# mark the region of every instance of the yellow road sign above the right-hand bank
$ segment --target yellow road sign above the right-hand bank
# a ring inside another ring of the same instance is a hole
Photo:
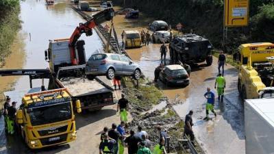
[[[249,0],[225,0],[225,27],[247,26],[249,21]]]

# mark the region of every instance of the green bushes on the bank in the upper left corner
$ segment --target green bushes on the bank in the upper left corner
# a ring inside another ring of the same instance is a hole
[[[18,0],[0,0],[0,62],[10,53],[10,45],[21,26],[19,12]]]

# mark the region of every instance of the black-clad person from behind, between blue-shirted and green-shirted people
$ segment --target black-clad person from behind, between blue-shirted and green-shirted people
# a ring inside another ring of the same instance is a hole
[[[135,136],[133,130],[130,130],[130,136],[125,138],[125,143],[127,143],[128,154],[136,154],[138,151],[138,142],[140,142],[140,138]]]

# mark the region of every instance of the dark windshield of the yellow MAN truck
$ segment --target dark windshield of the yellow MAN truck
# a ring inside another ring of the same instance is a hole
[[[29,118],[33,126],[55,123],[68,120],[72,117],[71,103],[68,101],[55,105],[29,107],[27,111],[29,112]]]

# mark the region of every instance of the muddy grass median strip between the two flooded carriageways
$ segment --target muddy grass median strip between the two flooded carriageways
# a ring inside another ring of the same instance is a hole
[[[139,86],[132,79],[123,79],[122,84],[125,87],[123,92],[129,100],[129,109],[134,118],[130,124],[132,127],[142,125],[143,129],[149,133],[150,140],[153,145],[158,142],[158,133],[155,131],[156,125],[162,125],[171,137],[171,150],[175,152],[177,149],[177,140],[182,139],[184,132],[184,122],[173,110],[171,105],[166,105],[162,110],[146,113],[151,110],[153,105],[157,105],[163,99],[163,94],[148,79],[140,79]],[[202,152],[201,148],[197,147]]]

